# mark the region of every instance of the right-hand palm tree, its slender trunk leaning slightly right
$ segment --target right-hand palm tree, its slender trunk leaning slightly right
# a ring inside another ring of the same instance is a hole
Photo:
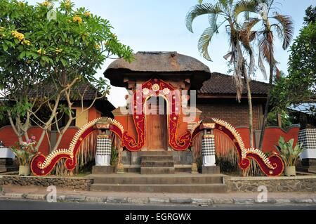
[[[258,37],[258,67],[260,67],[263,76],[266,78],[267,74],[263,60],[268,62],[270,68],[269,75],[269,88],[268,97],[265,103],[265,114],[263,117],[263,124],[261,127],[261,136],[259,142],[259,148],[262,149],[263,136],[265,133],[265,126],[267,123],[268,110],[271,99],[271,89],[273,84],[273,74],[276,73],[277,79],[280,76],[280,72],[277,69],[277,60],[275,60],[274,54],[274,37],[275,33],[277,37],[283,42],[282,48],[286,50],[291,43],[294,34],[294,26],[289,15],[281,15],[275,11],[275,0],[248,0],[239,1],[237,5],[244,5],[244,10],[247,15],[250,13],[256,13],[259,15],[257,18],[249,18],[252,24],[249,26],[251,30],[258,22],[262,21],[262,29],[256,32]],[[240,11],[239,13],[241,13]]]

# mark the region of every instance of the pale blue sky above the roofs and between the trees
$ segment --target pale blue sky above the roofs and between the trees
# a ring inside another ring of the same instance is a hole
[[[205,2],[214,3],[213,0]],[[34,1],[29,0],[30,4]],[[305,9],[314,4],[315,0],[278,0],[277,8],[282,14],[291,15],[294,20],[295,33],[303,25]],[[224,32],[213,38],[209,52],[213,62],[204,60],[197,51],[197,40],[206,28],[208,18],[201,16],[193,24],[194,34],[185,27],[185,15],[197,0],[75,0],[77,7],[84,6],[91,13],[100,15],[114,27],[113,32],[122,43],[131,46],[133,51],[178,51],[201,60],[209,66],[211,72],[228,72],[228,66],[223,55],[228,52],[228,37]],[[315,6],[315,4],[314,4]],[[283,51],[282,44],[275,44],[276,59],[279,69],[287,74],[289,53]],[[104,70],[112,62],[107,60],[103,69],[98,72],[102,76]],[[260,72],[254,79],[264,81]],[[112,87],[109,100],[117,107],[125,105],[124,88]]]

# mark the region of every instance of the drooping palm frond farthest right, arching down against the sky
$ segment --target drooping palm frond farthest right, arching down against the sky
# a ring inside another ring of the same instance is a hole
[[[291,19],[291,16],[289,15],[275,15],[273,16],[277,21],[279,21],[279,24],[282,25],[282,34],[283,34],[283,49],[287,49],[289,47],[289,44],[291,43],[293,39],[294,34],[294,25],[293,20]],[[279,25],[277,25],[279,26]],[[280,27],[281,29],[281,27]]]

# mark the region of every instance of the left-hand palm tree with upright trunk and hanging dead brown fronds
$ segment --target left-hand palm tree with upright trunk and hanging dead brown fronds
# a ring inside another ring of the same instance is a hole
[[[190,32],[192,30],[192,22],[199,15],[209,15],[209,27],[207,27],[202,33],[198,41],[199,53],[203,55],[206,60],[210,60],[209,56],[209,44],[213,34],[218,34],[218,30],[221,26],[226,27],[226,32],[228,33],[230,39],[230,52],[224,56],[225,59],[230,58],[230,64],[234,67],[234,78],[237,88],[237,100],[240,102],[243,92],[243,80],[246,83],[248,104],[249,104],[249,137],[250,137],[250,147],[254,147],[253,138],[253,119],[252,119],[252,103],[251,103],[251,90],[250,90],[250,76],[254,72],[254,55],[250,42],[254,39],[254,32],[251,32],[247,27],[246,23],[244,25],[239,25],[237,22],[237,17],[239,13],[245,12],[247,8],[246,4],[234,5],[233,0],[218,0],[216,4],[202,4],[202,0],[199,0],[199,4],[193,6],[187,13],[185,18],[185,24]],[[219,19],[221,22],[218,22]],[[242,44],[242,45],[241,45]],[[242,51],[242,46],[249,53],[249,70],[246,70],[246,60]]]

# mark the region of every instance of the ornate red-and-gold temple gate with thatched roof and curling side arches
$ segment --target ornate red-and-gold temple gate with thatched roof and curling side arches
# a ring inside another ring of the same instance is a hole
[[[177,169],[196,173],[193,143],[201,135],[202,143],[199,145],[203,164],[200,171],[219,173],[215,161],[214,130],[232,140],[239,155],[240,168],[249,167],[252,158],[267,176],[282,173],[284,165],[277,154],[267,157],[260,150],[246,149],[239,133],[225,121],[216,118],[210,118],[208,122],[199,120],[200,112],[194,105],[195,90],[211,76],[206,65],[176,52],[138,52],[135,58],[131,63],[115,60],[105,71],[105,77],[113,86],[130,91],[128,105],[114,112],[115,119],[99,118],[86,124],[76,134],[69,149],[52,152],[47,158],[41,154],[34,157],[32,171],[35,175],[47,175],[61,158],[67,159],[67,169],[73,169],[81,141],[95,129],[103,130],[104,139],[100,140],[106,141],[110,132],[121,139],[119,173],[175,173]],[[108,156],[111,146],[103,147]],[[108,166],[93,170],[100,173],[113,171]]]

